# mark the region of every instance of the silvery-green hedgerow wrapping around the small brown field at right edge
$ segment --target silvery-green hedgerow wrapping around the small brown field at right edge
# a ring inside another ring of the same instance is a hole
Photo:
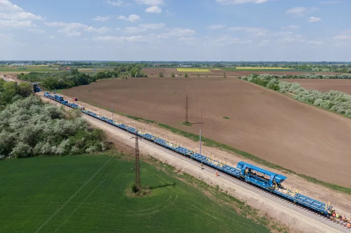
[[[251,74],[248,77],[239,77],[269,89],[277,90],[281,93],[289,92],[295,94],[294,98],[297,101],[314,105],[325,110],[342,114],[351,118],[351,95],[331,90],[329,92],[322,92],[313,89],[305,89],[299,83],[288,83],[280,81],[279,79],[287,78],[287,75],[270,75],[270,74]],[[290,76],[291,77],[291,76]],[[294,76],[295,77],[295,76]],[[318,74],[303,74],[298,75],[299,78],[321,78],[321,79],[351,79],[348,74],[335,74],[335,75],[318,75]]]

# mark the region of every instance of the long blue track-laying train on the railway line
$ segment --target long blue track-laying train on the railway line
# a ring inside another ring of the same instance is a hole
[[[53,99],[54,101],[59,102],[67,107],[79,109],[80,111],[82,111],[82,113],[86,115],[102,120],[108,124],[116,126],[132,134],[136,134],[140,138],[146,139],[176,153],[192,158],[224,174],[244,180],[248,183],[260,187],[261,189],[272,192],[275,195],[280,196],[290,202],[293,202],[316,213],[319,213],[320,215],[330,217],[335,212],[330,204],[325,204],[316,201],[315,199],[310,198],[308,196],[302,195],[299,193],[299,190],[293,191],[291,190],[291,188],[284,188],[282,186],[282,182],[286,179],[285,176],[278,175],[265,169],[258,168],[246,162],[239,162],[237,167],[231,167],[227,164],[224,164],[222,161],[212,159],[212,157],[208,157],[196,153],[196,151],[190,150],[188,148],[181,147],[180,145],[177,145],[177,143],[173,144],[168,140],[160,139],[159,137],[151,135],[148,132],[140,131],[134,127],[120,123],[105,116],[101,116],[95,112],[85,110],[84,107],[81,107],[74,103],[69,103],[60,95],[52,95],[49,92],[45,92],[44,97]]]

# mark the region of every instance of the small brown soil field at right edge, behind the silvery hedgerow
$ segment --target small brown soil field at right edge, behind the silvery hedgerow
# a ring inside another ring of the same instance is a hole
[[[298,82],[306,89],[328,92],[330,90],[343,91],[351,94],[350,79],[281,79],[289,83]]]

